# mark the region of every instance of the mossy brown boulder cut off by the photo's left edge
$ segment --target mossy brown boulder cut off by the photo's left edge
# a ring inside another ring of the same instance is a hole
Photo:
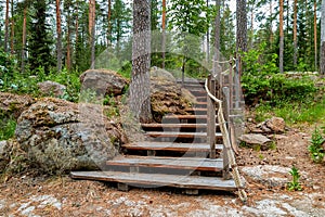
[[[0,92],[0,117],[18,118],[34,102],[35,100],[29,95]]]

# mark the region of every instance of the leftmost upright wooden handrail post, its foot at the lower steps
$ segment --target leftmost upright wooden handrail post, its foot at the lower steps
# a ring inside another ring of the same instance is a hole
[[[216,79],[209,75],[208,88],[216,95]],[[210,158],[216,158],[216,102],[208,95],[207,140],[210,145]]]

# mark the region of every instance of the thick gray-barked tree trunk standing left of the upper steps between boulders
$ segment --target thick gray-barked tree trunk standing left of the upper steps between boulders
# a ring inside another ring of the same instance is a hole
[[[132,78],[130,108],[135,118],[146,123],[151,113],[151,1],[133,1]]]

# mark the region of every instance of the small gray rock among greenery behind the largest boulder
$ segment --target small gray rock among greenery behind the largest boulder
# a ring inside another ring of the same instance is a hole
[[[66,91],[66,87],[64,85],[51,80],[38,82],[37,86],[43,97],[60,98],[63,97]]]

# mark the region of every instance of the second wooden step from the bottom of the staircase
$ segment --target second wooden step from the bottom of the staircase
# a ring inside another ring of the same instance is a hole
[[[106,165],[196,171],[221,171],[223,169],[223,159],[198,157],[119,156],[112,161],[107,161]]]

